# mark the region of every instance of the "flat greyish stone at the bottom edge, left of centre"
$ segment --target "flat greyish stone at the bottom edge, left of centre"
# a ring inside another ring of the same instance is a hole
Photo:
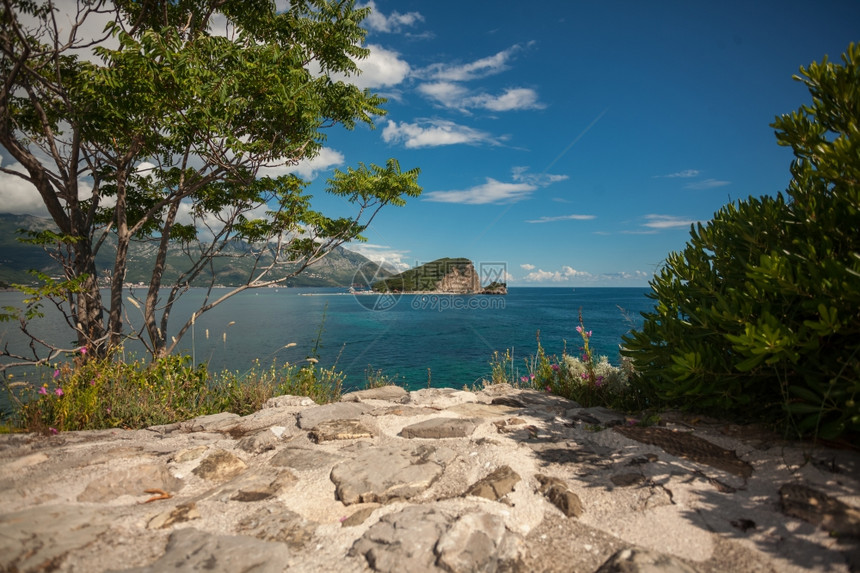
[[[281,543],[245,535],[214,535],[189,527],[170,534],[164,555],[155,563],[124,573],[281,573],[289,558],[289,548]]]

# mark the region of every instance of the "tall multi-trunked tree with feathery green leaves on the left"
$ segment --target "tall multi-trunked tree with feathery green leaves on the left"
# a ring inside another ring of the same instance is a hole
[[[352,0],[295,0],[283,12],[269,0],[75,5],[62,14],[51,0],[2,0],[0,144],[24,173],[0,169],[33,184],[59,229],[33,240],[62,262],[64,280],[33,295],[67,302],[79,346],[108,354],[143,335],[153,356],[169,353],[201,313],[295,276],[361,239],[385,205],[420,194],[417,169],[362,164],[329,180],[327,191],[356,210],[330,218],[311,208],[305,181],[266,169],[313,158],[327,128],[372,126],[384,114],[382,98],[332,79],[359,73],[369,9]],[[103,34],[82,32],[106,19]],[[150,243],[154,257],[146,296],[135,301],[143,327],[126,333],[123,279],[135,241]],[[253,273],[218,299],[207,295],[169,342],[173,304],[203,276],[211,293],[213,261],[236,241],[251,246]],[[109,243],[103,300],[95,257]],[[167,285],[171,245],[188,264]],[[286,263],[290,275],[269,278]]]

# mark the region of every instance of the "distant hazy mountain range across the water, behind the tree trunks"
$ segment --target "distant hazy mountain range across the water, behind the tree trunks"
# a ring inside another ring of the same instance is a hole
[[[0,287],[10,284],[32,284],[30,269],[41,271],[49,276],[61,276],[60,265],[37,245],[22,243],[25,237],[19,229],[28,231],[55,230],[53,221],[31,215],[12,215],[0,213]],[[100,276],[109,276],[113,268],[115,250],[107,242],[96,257]],[[152,261],[155,258],[154,243],[135,242],[129,248],[126,282],[149,282]],[[249,245],[234,241],[227,245],[223,255],[213,261],[216,284],[237,286],[243,284],[252,271],[252,259],[243,256],[250,252]],[[170,247],[165,263],[164,277],[167,284],[175,279],[189,262],[187,255],[178,247]],[[270,274],[270,278],[280,278],[289,274],[294,265],[280,265]],[[354,251],[337,247],[322,260],[305,269],[297,277],[289,279],[287,286],[362,286],[367,287],[372,280],[388,277],[396,271],[374,263]],[[202,277],[197,284],[208,284]]]

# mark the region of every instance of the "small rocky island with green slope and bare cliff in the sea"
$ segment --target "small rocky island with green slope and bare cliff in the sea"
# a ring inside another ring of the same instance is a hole
[[[505,283],[481,286],[475,265],[465,258],[442,258],[373,283],[375,292],[421,294],[508,294]]]

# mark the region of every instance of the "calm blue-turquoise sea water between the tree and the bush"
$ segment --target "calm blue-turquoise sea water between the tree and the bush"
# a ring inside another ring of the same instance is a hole
[[[537,333],[548,354],[576,352],[581,340],[578,314],[593,331],[592,345],[618,363],[621,336],[641,325],[650,309],[645,288],[511,288],[507,296],[421,296],[386,298],[351,295],[343,289],[259,289],[237,295],[201,316],[183,338],[183,351],[210,369],[248,370],[255,359],[302,362],[319,338],[322,366],[337,365],[346,387],[365,383],[368,368],[381,370],[411,388],[429,375],[437,387],[462,387],[490,376],[494,351],[511,350],[515,365],[534,355]],[[197,308],[203,291],[191,290],[173,311],[184,318]],[[0,306],[18,304],[21,295],[0,293]],[[46,309],[47,310],[47,309]],[[137,312],[133,307],[129,313]],[[132,320],[134,316],[131,317]],[[176,321],[178,325],[178,320]],[[0,323],[0,344],[25,349],[14,323]],[[56,313],[34,331],[70,344]],[[295,343],[295,346],[285,348]],[[138,354],[141,353],[138,347]],[[135,352],[135,343],[127,346]]]

